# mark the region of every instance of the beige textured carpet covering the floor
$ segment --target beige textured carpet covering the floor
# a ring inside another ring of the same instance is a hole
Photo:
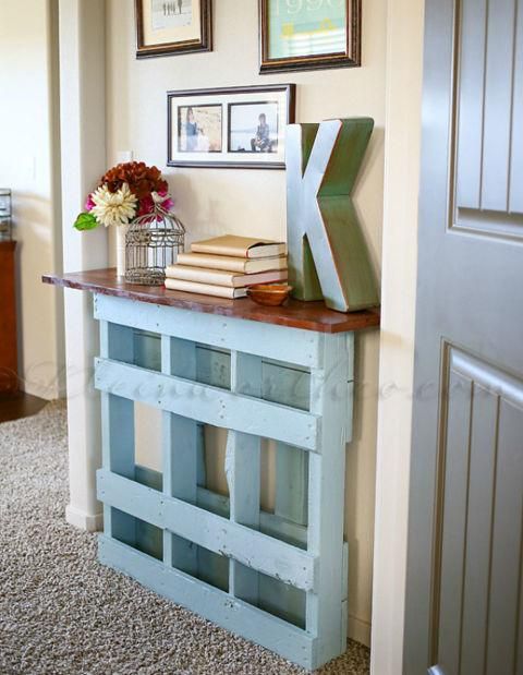
[[[1,675],[304,673],[96,562],[64,522],[65,409],[0,424]],[[318,673],[368,673],[355,642]]]

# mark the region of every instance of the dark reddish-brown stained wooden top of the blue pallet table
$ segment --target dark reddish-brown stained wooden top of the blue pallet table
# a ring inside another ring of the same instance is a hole
[[[139,302],[163,304],[193,312],[220,314],[234,318],[259,321],[291,328],[304,328],[318,333],[352,333],[364,328],[379,326],[379,309],[364,310],[344,314],[327,309],[324,302],[302,302],[288,300],[282,306],[268,308],[256,304],[250,298],[226,300],[198,293],[172,291],[163,286],[137,286],[126,284],[117,276],[117,270],[93,269],[71,274],[45,275],[45,284],[75,288],[93,293],[117,296]]]

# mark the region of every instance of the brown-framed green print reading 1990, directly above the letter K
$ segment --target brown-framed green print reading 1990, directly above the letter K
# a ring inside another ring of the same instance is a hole
[[[361,65],[361,0],[258,0],[260,73]]]

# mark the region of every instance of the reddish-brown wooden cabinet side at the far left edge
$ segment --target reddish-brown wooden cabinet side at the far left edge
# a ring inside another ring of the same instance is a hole
[[[14,241],[0,241],[0,393],[19,388]]]

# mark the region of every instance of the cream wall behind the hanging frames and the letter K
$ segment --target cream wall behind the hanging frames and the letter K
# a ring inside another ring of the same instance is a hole
[[[296,121],[372,116],[376,131],[355,200],[372,257],[380,268],[386,3],[365,0],[363,68],[260,76],[256,0],[215,3],[215,48],[210,53],[137,61],[134,11],[129,0],[107,1],[107,164],[119,152],[156,164],[169,176],[188,239],[231,231],[285,237],[283,171],[167,169],[168,89],[295,82]],[[259,194],[269,195],[260,202]],[[369,641],[375,495],[378,333],[357,340],[354,441],[348,449],[346,537],[351,545],[350,635]]]

